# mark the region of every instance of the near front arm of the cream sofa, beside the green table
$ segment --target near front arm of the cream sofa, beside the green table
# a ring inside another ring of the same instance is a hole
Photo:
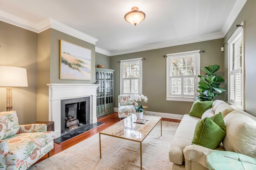
[[[186,160],[198,162],[206,168],[208,168],[206,165],[206,156],[212,151],[215,150],[199,145],[189,145],[183,149],[184,157]]]

